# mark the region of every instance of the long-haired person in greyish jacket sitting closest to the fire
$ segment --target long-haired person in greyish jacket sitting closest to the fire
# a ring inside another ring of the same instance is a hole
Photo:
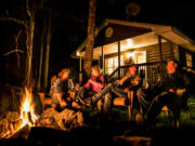
[[[68,92],[75,90],[74,82],[68,77],[69,69],[62,69],[51,85],[50,95],[52,97],[51,105],[53,108],[65,107],[67,105],[66,97],[69,96]]]

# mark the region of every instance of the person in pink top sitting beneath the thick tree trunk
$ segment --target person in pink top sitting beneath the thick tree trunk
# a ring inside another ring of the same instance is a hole
[[[76,101],[73,103],[73,107],[80,108],[81,105],[86,105],[83,102],[86,97],[90,97],[96,94],[104,88],[104,76],[100,74],[100,70],[96,66],[91,68],[91,78],[78,92]]]

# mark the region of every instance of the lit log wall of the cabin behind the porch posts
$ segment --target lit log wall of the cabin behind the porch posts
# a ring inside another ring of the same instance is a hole
[[[161,43],[161,51],[162,51],[161,52],[162,53],[162,61],[169,61],[169,59],[172,59],[172,58],[178,59],[179,58],[178,45],[174,44],[174,43],[171,43],[169,41],[162,42]],[[139,49],[131,49],[129,51],[121,52],[120,53],[120,55],[121,55],[120,65],[121,66],[127,65],[127,59],[128,59],[127,54],[128,53],[134,53],[136,56],[140,53],[142,55],[144,53],[145,54],[145,59],[144,59],[144,62],[141,62],[141,63],[154,63],[154,62],[159,62],[160,61],[159,44],[154,44],[154,45],[150,45],[150,47],[145,47],[145,48],[139,48]],[[113,58],[113,61],[108,62],[108,59],[110,59],[110,58]],[[117,59],[118,59],[118,53],[113,53],[113,54],[105,55],[105,74],[109,75],[118,67]],[[134,61],[133,63],[138,64],[138,61],[136,62]],[[115,64],[115,65],[113,67],[109,67],[110,64]],[[151,75],[156,76],[156,74],[153,72],[154,71],[153,67],[147,67],[147,69],[146,68],[144,69],[148,76],[151,76]]]

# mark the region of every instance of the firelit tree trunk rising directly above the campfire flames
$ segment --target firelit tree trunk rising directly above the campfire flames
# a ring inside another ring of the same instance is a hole
[[[31,85],[31,61],[32,61],[32,45],[34,45],[34,34],[35,34],[35,13],[30,15],[29,25],[27,26],[27,59],[26,59],[26,79],[25,85],[29,88]]]

